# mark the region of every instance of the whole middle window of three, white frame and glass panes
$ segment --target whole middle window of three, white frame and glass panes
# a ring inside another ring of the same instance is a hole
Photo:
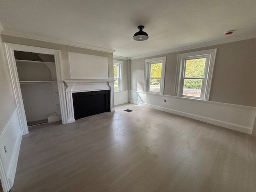
[[[144,60],[144,92],[164,94],[166,57]]]

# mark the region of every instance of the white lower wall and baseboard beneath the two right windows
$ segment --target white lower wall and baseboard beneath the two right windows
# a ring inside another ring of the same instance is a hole
[[[164,97],[164,98],[163,98]],[[164,102],[164,99],[166,102]],[[256,108],[131,91],[131,103],[252,134]]]

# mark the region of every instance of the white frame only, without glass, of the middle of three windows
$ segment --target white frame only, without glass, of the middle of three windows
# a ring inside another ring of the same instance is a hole
[[[162,74],[160,80],[160,92],[151,92],[150,91],[150,65],[155,63],[162,63]],[[154,93],[154,94],[164,94],[164,74],[165,74],[165,63],[166,63],[166,56],[165,57],[158,57],[152,59],[145,59],[144,60],[144,92]]]

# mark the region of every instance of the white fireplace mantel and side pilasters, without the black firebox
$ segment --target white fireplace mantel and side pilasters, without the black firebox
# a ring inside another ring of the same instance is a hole
[[[64,80],[64,82],[67,85],[65,92],[68,110],[68,123],[75,121],[72,93],[110,90],[110,111],[115,111],[113,79],[72,79]]]

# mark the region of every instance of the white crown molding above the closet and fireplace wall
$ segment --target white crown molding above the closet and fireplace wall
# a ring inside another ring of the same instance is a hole
[[[1,26],[0,26],[0,28],[1,28]],[[68,46],[75,46],[75,47],[96,50],[96,51],[102,51],[102,52],[108,52],[108,53],[115,52],[115,50],[106,49],[106,48],[102,48],[102,47],[96,47],[96,46],[91,46],[91,45],[86,45],[86,44],[81,44],[81,43],[69,42],[69,41],[50,38],[50,37],[37,35],[37,34],[25,34],[25,33],[20,33],[20,32],[16,32],[16,31],[5,30],[4,28],[1,32],[1,34],[20,37],[20,38],[39,40],[39,41],[44,41],[44,42],[50,42],[50,43],[56,43],[56,44],[62,44],[62,45],[68,45]]]

